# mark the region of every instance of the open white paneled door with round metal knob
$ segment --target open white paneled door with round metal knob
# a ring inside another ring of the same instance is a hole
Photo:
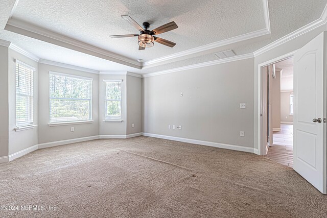
[[[324,46],[321,33],[294,54],[294,170],[322,193],[327,154]]]

